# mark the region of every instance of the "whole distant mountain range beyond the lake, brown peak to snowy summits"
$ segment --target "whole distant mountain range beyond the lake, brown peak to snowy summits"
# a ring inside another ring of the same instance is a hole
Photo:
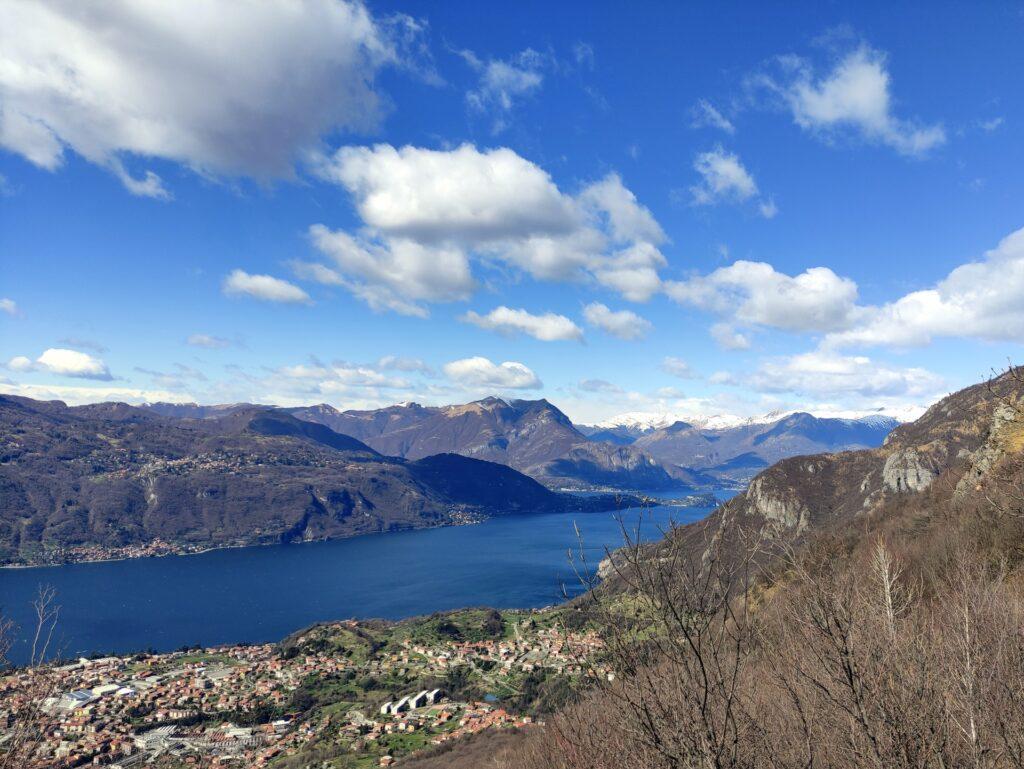
[[[197,419],[243,408],[148,407]],[[877,410],[829,417],[772,412],[751,418],[719,415],[685,420],[633,412],[597,425],[575,425],[547,400],[499,397],[442,407],[409,402],[339,411],[319,403],[285,411],[351,435],[384,455],[415,460],[460,454],[508,465],[554,488],[734,485],[786,457],[881,445],[900,423],[896,416]]]

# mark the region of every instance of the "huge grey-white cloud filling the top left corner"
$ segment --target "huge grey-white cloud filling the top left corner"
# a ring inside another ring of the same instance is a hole
[[[129,165],[288,177],[325,134],[376,126],[375,75],[421,29],[390,22],[348,0],[7,0],[0,145],[48,170],[72,149],[157,198],[161,178]]]

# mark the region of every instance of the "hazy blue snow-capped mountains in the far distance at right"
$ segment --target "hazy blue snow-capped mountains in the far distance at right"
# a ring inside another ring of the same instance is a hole
[[[632,445],[665,465],[745,481],[786,457],[881,445],[897,424],[885,417],[823,419],[810,414],[714,430],[676,422],[639,436]]]

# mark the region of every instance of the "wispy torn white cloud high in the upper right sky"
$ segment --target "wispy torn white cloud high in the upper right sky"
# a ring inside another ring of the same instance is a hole
[[[826,136],[852,129],[868,141],[907,156],[921,156],[946,140],[941,125],[921,125],[893,114],[891,77],[886,56],[861,45],[824,77],[803,59],[784,59],[788,72],[762,82],[781,94],[793,119],[804,129]]]

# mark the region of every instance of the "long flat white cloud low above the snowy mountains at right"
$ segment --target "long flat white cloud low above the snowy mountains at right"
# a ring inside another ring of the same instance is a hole
[[[763,392],[866,398],[934,398],[944,386],[941,377],[926,369],[895,368],[823,350],[766,361],[749,384]]]

